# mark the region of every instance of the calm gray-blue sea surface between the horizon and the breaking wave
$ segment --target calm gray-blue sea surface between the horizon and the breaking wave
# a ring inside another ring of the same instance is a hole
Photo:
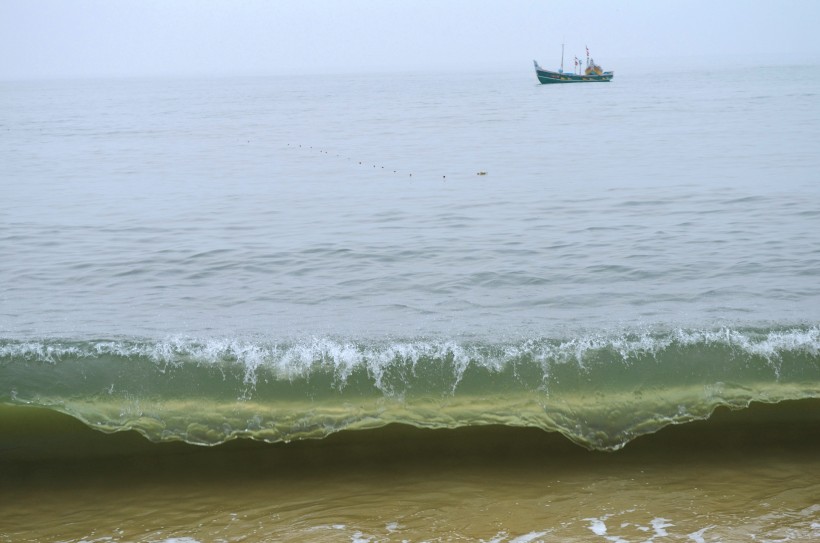
[[[817,72],[4,82],[0,100],[10,338],[820,320]]]

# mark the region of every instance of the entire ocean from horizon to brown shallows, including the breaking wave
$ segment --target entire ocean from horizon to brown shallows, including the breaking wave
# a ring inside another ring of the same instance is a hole
[[[0,542],[820,538],[820,76],[0,82]]]

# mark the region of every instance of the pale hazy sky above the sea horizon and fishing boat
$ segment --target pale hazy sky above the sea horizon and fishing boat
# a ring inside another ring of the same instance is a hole
[[[820,61],[818,0],[0,0],[0,78]],[[695,60],[697,59],[697,60]]]

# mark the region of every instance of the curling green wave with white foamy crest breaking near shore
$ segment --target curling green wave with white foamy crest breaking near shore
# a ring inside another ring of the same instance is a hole
[[[201,445],[397,422],[537,427],[615,450],[721,405],[817,397],[820,329],[807,326],[496,343],[0,340],[0,402]]]

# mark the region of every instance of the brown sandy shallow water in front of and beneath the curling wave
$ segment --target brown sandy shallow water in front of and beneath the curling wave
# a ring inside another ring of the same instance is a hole
[[[203,448],[39,409],[0,421],[4,543],[820,536],[816,401],[719,411],[617,453],[505,427]]]

